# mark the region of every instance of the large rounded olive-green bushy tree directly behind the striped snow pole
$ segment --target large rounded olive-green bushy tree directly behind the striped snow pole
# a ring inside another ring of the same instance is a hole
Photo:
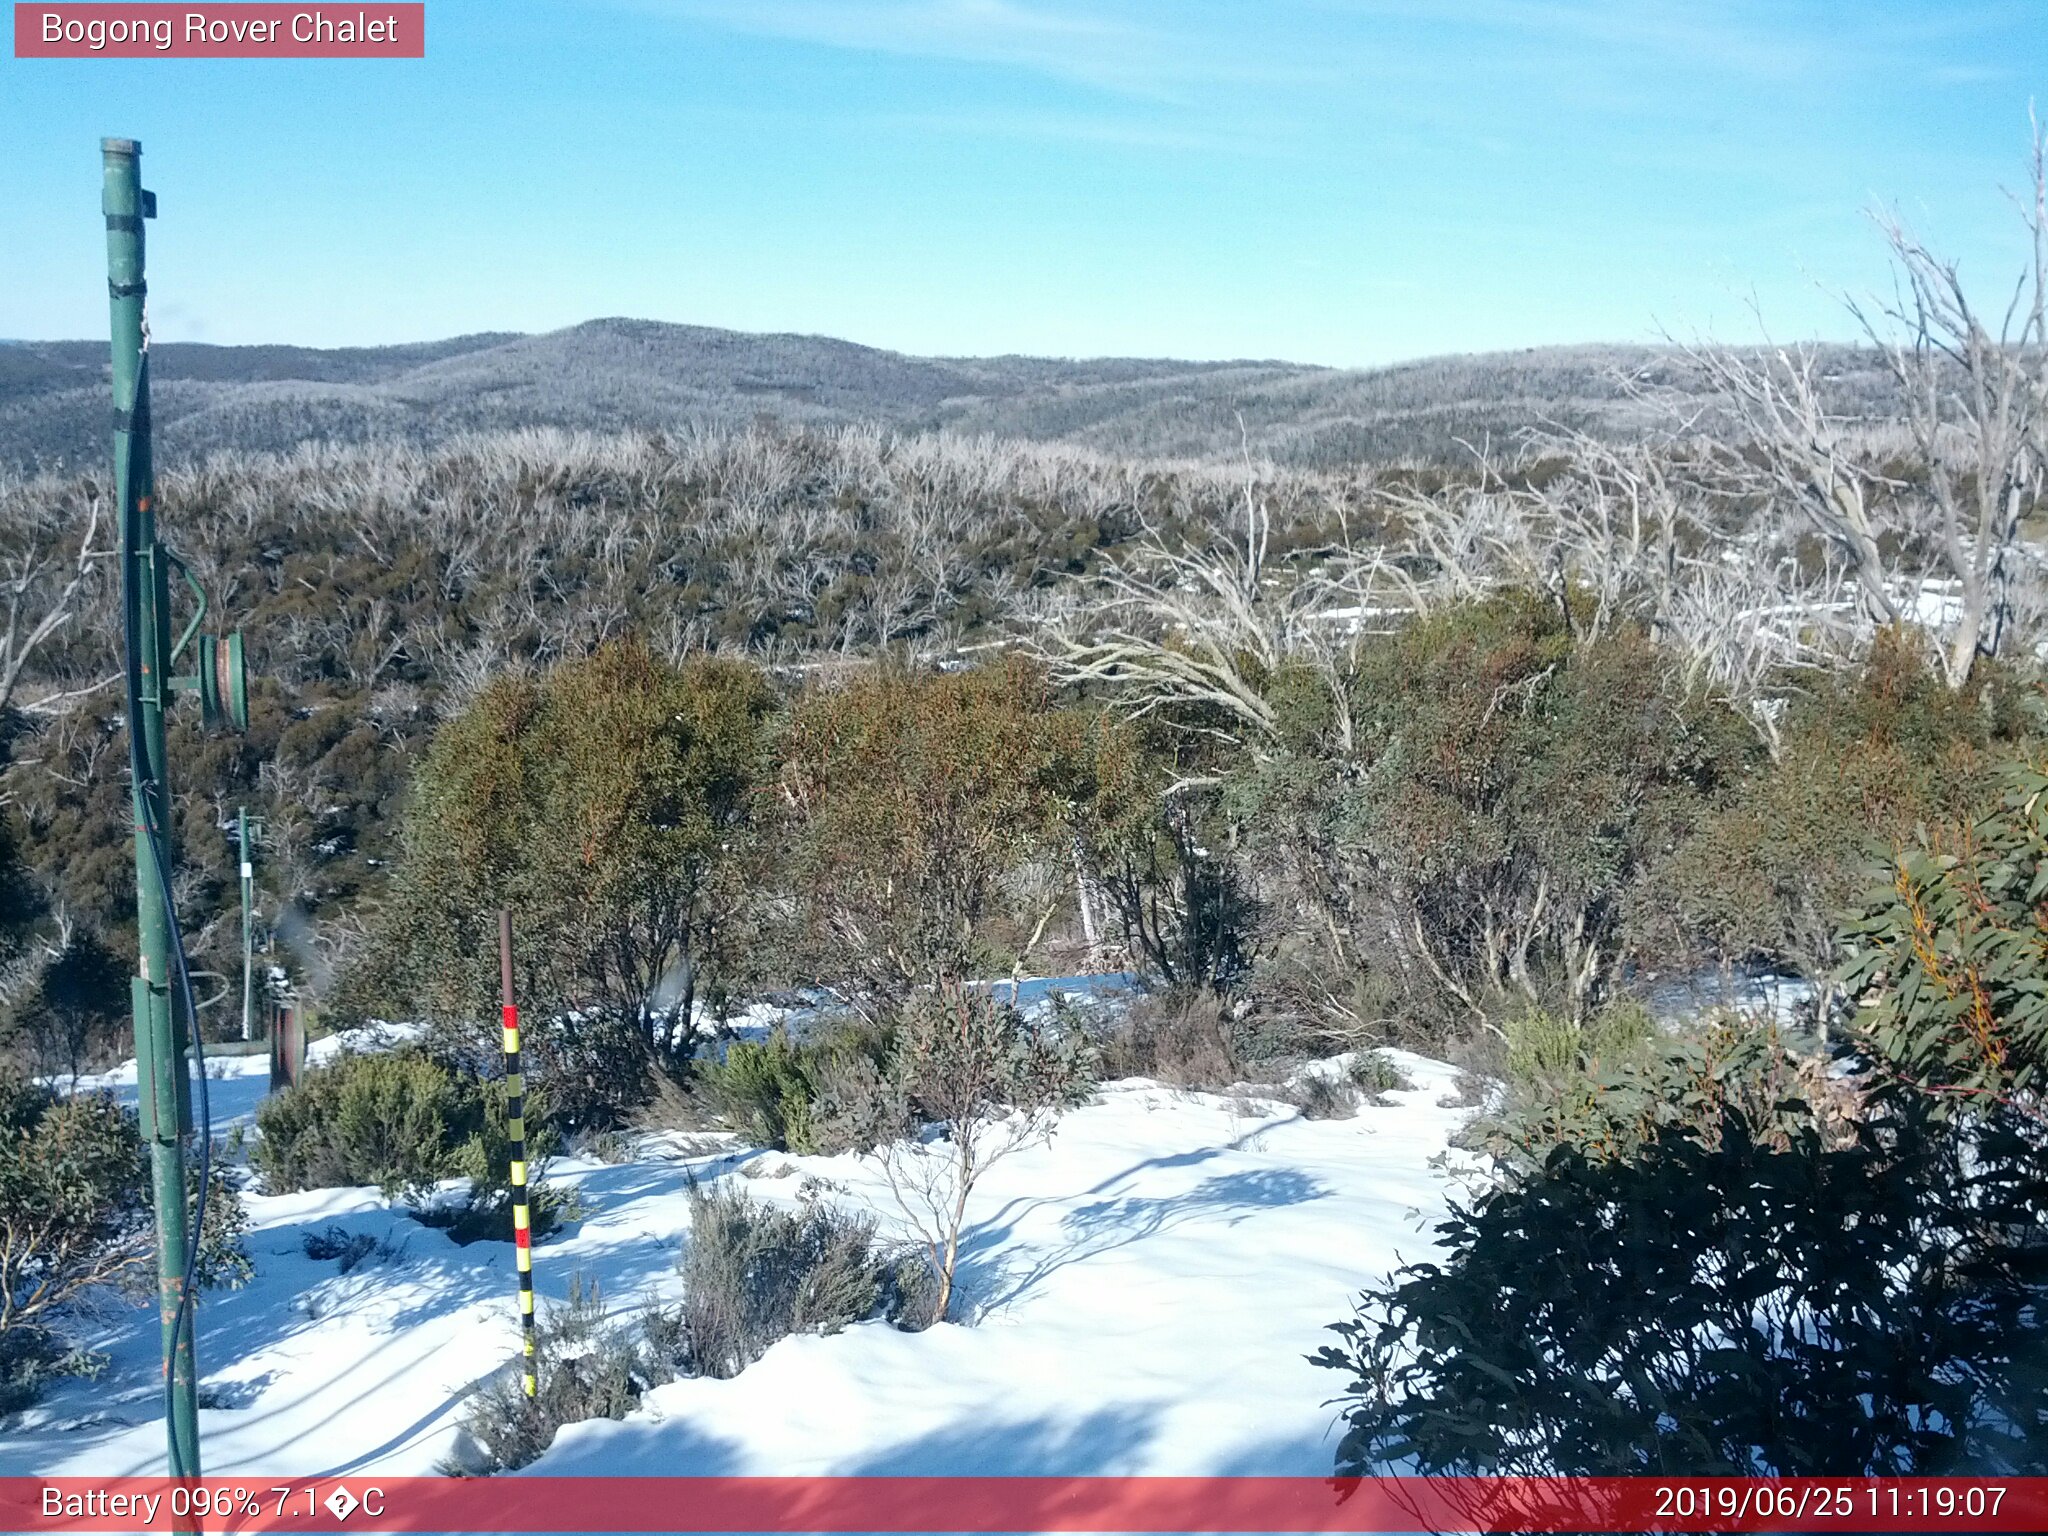
[[[684,1071],[692,1010],[719,1014],[748,958],[739,864],[772,702],[752,666],[674,666],[639,639],[496,678],[414,774],[352,989],[487,1053],[510,907],[528,1065],[563,1124],[625,1118],[649,1073]]]

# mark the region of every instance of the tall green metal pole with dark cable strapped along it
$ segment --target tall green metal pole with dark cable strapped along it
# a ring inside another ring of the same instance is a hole
[[[156,1198],[158,1307],[168,1376],[170,1475],[199,1477],[199,1372],[193,1329],[178,1327],[184,1298],[186,1231],[184,1135],[190,1085],[184,1071],[186,1020],[172,1012],[170,913],[158,846],[170,856],[170,780],[164,762],[164,705],[170,686],[170,573],[156,541],[156,473],[150,465],[150,342],[143,322],[141,221],[156,199],[141,190],[141,145],[102,139],[106,293],[113,309],[115,498],[121,506],[121,600],[127,631],[129,760],[135,817],[137,975],[135,1065],[141,1135],[150,1147]],[[150,836],[150,827],[160,831]]]

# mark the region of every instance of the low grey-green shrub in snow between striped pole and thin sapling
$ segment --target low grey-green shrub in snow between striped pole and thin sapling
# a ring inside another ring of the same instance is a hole
[[[883,1300],[885,1272],[864,1214],[825,1200],[782,1210],[692,1184],[682,1253],[688,1368],[735,1376],[780,1337],[858,1323]]]

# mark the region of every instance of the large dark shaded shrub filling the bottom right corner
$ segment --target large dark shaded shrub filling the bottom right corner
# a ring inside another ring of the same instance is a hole
[[[1540,1079],[1501,1184],[1339,1325],[1339,1470],[1944,1475],[2048,1458],[2048,774],[1843,928],[1874,1065],[1720,1020]],[[1554,1028],[1513,1040],[1532,1071]],[[1583,1059],[1583,1053],[1581,1053]]]

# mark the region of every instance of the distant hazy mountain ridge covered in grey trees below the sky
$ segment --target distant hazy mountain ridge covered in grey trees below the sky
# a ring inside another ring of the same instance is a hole
[[[150,352],[160,461],[287,451],[303,440],[436,442],[516,426],[881,422],[991,432],[1133,457],[1253,451],[1298,465],[1446,459],[1538,422],[1626,432],[1616,383],[1653,348],[1563,346],[1386,369],[1278,360],[926,358],[825,336],[651,319],[403,346],[209,346]],[[1845,356],[1855,356],[1845,350]],[[1853,365],[1851,365],[1853,367]],[[1239,426],[1241,424],[1241,426]],[[106,344],[0,342],[0,461],[98,463]]]

